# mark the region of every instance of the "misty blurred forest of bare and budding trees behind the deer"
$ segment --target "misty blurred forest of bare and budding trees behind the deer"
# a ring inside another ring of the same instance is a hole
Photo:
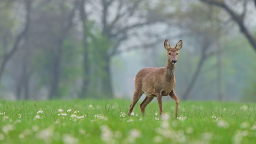
[[[131,99],[182,39],[180,99],[256,102],[255,15],[256,0],[1,0],[0,99]]]

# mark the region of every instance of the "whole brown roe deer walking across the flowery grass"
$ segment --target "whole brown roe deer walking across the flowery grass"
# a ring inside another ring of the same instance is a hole
[[[174,70],[175,64],[178,61],[178,51],[182,48],[182,40],[180,40],[174,48],[171,48],[168,40],[165,40],[164,48],[167,50],[166,67],[143,68],[136,75],[134,79],[135,89],[133,100],[130,105],[128,116],[131,114],[135,104],[138,102],[142,94],[145,93],[146,98],[140,104],[140,110],[143,115],[145,115],[146,106],[154,97],[157,98],[159,112],[160,115],[162,115],[162,96],[167,96],[169,94],[176,101],[175,118],[177,118],[179,99],[174,92],[176,85]]]

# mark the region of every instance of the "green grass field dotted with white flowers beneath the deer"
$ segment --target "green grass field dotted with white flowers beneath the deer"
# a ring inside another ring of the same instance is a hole
[[[1,144],[256,144],[256,104],[151,102],[143,117],[131,100],[0,101]]]

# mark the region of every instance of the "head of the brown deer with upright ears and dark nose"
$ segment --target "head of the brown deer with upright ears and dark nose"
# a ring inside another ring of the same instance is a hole
[[[180,40],[174,48],[171,48],[168,40],[164,41],[164,48],[167,50],[168,64],[175,65],[178,62],[178,52],[182,48],[182,40]]]

